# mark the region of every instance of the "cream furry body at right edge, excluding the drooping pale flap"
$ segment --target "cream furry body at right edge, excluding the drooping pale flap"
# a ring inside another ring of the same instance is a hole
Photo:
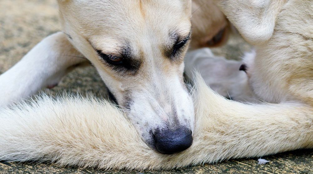
[[[250,86],[261,99],[313,105],[313,2],[288,1],[272,37],[246,61]]]

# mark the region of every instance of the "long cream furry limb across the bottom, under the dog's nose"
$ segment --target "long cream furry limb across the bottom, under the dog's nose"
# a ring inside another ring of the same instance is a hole
[[[31,105],[1,110],[0,160],[158,170],[313,147],[310,107],[226,100],[200,75],[193,95],[194,142],[181,153],[164,155],[150,149],[122,111],[107,101],[44,96]]]

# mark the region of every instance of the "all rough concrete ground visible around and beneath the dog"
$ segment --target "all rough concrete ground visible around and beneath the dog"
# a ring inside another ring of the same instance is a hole
[[[0,1],[0,74],[13,66],[35,44],[60,27],[55,0]],[[251,46],[240,37],[213,52],[229,59],[239,59]],[[93,67],[75,69],[59,86],[47,93],[93,92],[106,94],[105,85]],[[1,100],[1,99],[0,99]],[[0,147],[1,148],[1,147]],[[263,157],[270,162],[257,164],[257,158],[236,159],[217,164],[190,166],[172,171],[102,171],[51,164],[0,161],[0,173],[313,173],[313,150],[298,150]]]

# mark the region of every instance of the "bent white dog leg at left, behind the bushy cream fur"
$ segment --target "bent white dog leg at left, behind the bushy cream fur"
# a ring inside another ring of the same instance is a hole
[[[0,107],[26,99],[58,84],[77,65],[87,62],[63,33],[38,43],[11,69],[0,75]]]

